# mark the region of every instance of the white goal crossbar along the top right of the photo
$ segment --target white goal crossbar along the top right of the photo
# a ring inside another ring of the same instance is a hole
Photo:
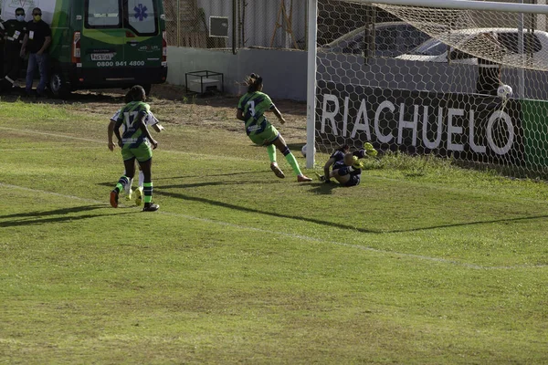
[[[548,14],[548,5],[513,4],[495,1],[472,0],[353,0],[353,3],[436,7],[442,9],[468,9],[502,11],[509,13]]]

